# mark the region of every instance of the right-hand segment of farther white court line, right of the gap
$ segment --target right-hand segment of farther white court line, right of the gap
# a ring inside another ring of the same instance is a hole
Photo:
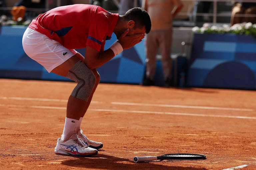
[[[133,106],[157,106],[157,107],[171,107],[171,108],[191,108],[191,109],[253,111],[253,109],[221,108],[221,107],[205,107],[205,106],[186,106],[186,105],[161,105],[161,104],[123,103],[123,102],[111,102],[111,104],[113,104],[113,105],[133,105]]]

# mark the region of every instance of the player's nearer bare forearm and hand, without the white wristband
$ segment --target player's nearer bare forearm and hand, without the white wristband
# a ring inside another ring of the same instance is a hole
[[[145,37],[144,34],[128,35],[129,29],[127,29],[119,38],[118,42],[122,45],[123,49],[128,49],[137,43],[141,42]],[[89,69],[94,69],[102,66],[115,56],[112,49],[105,51],[97,51],[96,49],[87,46],[85,52],[84,62]]]

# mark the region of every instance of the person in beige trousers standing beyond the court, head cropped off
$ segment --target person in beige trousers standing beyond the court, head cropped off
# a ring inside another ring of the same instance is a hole
[[[165,86],[173,86],[172,77],[172,21],[182,9],[180,0],[143,0],[144,8],[151,19],[151,31],[146,36],[146,75],[142,85],[154,85],[156,71],[156,54],[158,48],[162,55],[162,67],[165,78]]]

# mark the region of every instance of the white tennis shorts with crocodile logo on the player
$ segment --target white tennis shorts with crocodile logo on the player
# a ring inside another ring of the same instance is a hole
[[[67,49],[59,42],[49,39],[31,28],[27,28],[22,38],[23,49],[26,54],[51,72],[77,53],[74,49]]]

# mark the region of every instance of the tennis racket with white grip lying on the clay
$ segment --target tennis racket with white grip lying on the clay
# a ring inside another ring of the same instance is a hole
[[[154,160],[198,160],[206,159],[206,155],[194,154],[194,153],[171,153],[161,156],[135,156],[133,161],[136,162],[145,162],[145,161],[154,161]]]

